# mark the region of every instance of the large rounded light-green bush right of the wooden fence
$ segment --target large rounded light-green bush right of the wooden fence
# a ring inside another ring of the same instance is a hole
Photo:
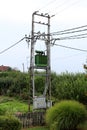
[[[74,130],[86,120],[86,108],[77,101],[65,100],[47,110],[46,122],[52,130]]]

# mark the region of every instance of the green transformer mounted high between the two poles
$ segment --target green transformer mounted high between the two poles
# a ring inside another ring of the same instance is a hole
[[[35,65],[38,67],[47,66],[47,55],[43,51],[36,51]]]

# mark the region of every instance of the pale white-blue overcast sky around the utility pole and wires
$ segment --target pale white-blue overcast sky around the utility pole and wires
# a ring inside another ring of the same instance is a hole
[[[31,33],[32,13],[37,10],[50,16],[55,14],[51,18],[51,33],[87,25],[86,0],[0,0],[0,52],[18,42],[25,34],[28,36]],[[55,43],[87,50],[87,38],[58,40]],[[86,61],[86,51],[56,45],[51,47],[53,72],[85,72],[83,64]],[[30,65],[30,45],[26,40],[0,53],[0,65],[21,71],[24,67],[27,72]]]

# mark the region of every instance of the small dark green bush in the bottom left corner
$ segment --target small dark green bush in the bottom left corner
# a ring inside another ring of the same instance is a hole
[[[0,130],[21,130],[20,121],[13,116],[0,116]]]

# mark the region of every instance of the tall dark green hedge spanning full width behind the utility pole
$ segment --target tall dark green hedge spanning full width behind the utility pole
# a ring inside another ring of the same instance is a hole
[[[44,73],[44,72],[35,72]],[[0,73],[0,95],[16,97],[22,101],[29,99],[29,74],[21,72]],[[44,90],[44,76],[35,77],[36,94],[40,95]],[[87,104],[87,74],[85,73],[56,73],[51,74],[52,99],[54,102],[70,99]],[[32,94],[32,92],[31,92]]]

